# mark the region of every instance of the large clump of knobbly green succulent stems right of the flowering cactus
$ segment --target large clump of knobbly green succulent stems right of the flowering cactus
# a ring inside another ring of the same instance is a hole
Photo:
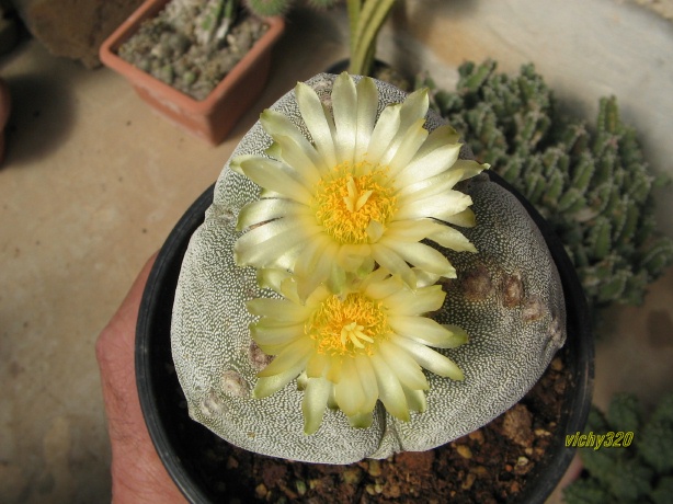
[[[603,98],[595,126],[563,117],[533,65],[518,76],[466,62],[455,91],[429,78],[433,107],[552,225],[593,307],[641,303],[673,262],[673,241],[655,231],[654,176],[636,130]]]

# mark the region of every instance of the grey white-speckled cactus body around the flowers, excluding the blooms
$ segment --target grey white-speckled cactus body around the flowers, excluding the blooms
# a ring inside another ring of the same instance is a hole
[[[334,76],[320,75],[307,83],[328,101],[333,81]],[[404,100],[397,88],[378,81],[376,87],[379,113]],[[294,92],[272,110],[303,127]],[[431,131],[443,124],[432,112],[426,119]],[[270,136],[256,123],[235,156],[262,154],[270,145]],[[464,148],[461,157],[469,157],[469,149]],[[566,340],[561,283],[545,240],[514,196],[487,175],[464,182],[461,190],[471,196],[477,219],[477,226],[464,234],[478,252],[440,248],[457,278],[443,280],[446,299],[432,317],[469,334],[467,344],[437,351],[459,365],[465,379],[426,373],[426,411],[412,412],[409,422],[393,417],[379,403],[372,425],[354,428],[342,411],[328,409],[320,428],[307,435],[303,391],[295,381],[264,399],[251,393],[271,357],[251,339],[249,325],[258,318],[246,302],[277,295],[258,286],[254,268],[235,263],[233,245],[241,236],[237,216],[259,198],[260,188],[227,163],[205,222],[190,242],[173,307],[172,352],[191,416],[251,451],[350,463],[441,446],[517,402]]]

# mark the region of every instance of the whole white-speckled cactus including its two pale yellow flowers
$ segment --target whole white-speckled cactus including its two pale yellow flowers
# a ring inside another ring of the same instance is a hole
[[[242,138],[171,323],[190,415],[262,455],[351,463],[489,423],[566,341],[515,196],[423,92],[319,75]]]

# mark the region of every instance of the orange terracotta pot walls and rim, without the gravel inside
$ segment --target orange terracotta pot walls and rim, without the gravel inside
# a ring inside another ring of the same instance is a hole
[[[261,94],[269,77],[271,49],[285,30],[282,18],[266,20],[269,30],[205,100],[195,100],[134,67],[117,50],[140,24],[169,0],[147,0],[107,37],[100,49],[103,65],[124,76],[157,112],[212,145],[220,144]]]

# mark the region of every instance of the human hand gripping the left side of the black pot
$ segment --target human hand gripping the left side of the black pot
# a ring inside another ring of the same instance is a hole
[[[145,264],[95,344],[112,444],[112,501],[116,504],[185,502],[155,450],[136,388],[136,322],[155,259]]]

